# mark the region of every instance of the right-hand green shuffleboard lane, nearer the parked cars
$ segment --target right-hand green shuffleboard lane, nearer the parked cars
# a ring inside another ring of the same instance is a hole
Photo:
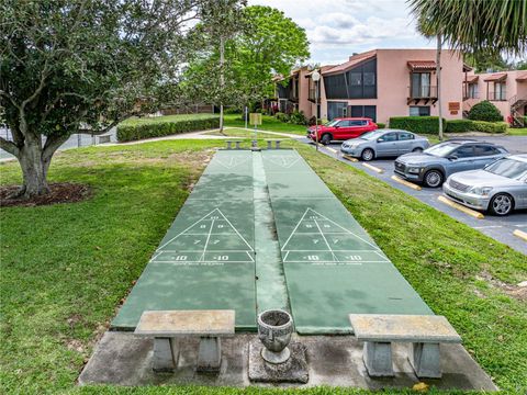
[[[433,314],[295,151],[265,151],[291,309],[300,334],[350,332],[347,315]]]

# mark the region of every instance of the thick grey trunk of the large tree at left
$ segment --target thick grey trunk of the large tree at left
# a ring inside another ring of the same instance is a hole
[[[22,168],[23,184],[19,192],[20,196],[31,199],[49,192],[47,184],[47,170],[51,157],[43,159],[41,136],[29,136],[18,156]]]

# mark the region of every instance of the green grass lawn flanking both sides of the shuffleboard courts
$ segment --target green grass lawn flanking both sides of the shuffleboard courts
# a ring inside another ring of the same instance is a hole
[[[527,303],[508,285],[525,256],[346,163],[292,140],[436,314],[511,393],[527,391]],[[3,393],[240,394],[236,388],[75,387],[108,327],[223,140],[165,140],[57,154],[52,181],[89,183],[81,203],[1,208]],[[20,182],[15,162],[0,182]],[[249,394],[329,394],[249,388]],[[340,394],[366,393],[338,390]],[[393,392],[390,392],[393,393]]]

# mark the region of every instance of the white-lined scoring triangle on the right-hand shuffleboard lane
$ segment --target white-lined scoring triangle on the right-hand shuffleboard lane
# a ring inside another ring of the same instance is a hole
[[[378,246],[309,207],[282,249],[284,263],[381,263]]]

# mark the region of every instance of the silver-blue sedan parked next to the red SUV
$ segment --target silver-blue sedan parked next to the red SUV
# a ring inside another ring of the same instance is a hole
[[[377,129],[346,140],[340,146],[344,154],[369,161],[373,158],[393,157],[407,153],[422,153],[428,148],[428,138],[400,129]]]

